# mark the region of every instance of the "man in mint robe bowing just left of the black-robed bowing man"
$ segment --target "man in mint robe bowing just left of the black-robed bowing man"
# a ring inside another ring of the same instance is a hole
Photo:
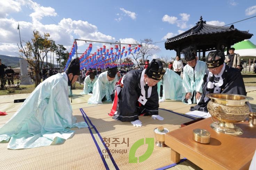
[[[111,102],[110,95],[117,82],[117,67],[101,73],[93,85],[93,95],[88,100],[88,104],[99,104],[102,101]]]

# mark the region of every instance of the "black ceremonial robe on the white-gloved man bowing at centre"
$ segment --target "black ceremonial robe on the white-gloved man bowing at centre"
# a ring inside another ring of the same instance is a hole
[[[158,115],[158,92],[157,85],[149,87],[147,102],[143,105],[138,102],[140,96],[145,96],[145,70],[131,70],[122,78],[122,90],[119,93],[117,113],[113,119],[125,121],[138,120],[138,116]]]

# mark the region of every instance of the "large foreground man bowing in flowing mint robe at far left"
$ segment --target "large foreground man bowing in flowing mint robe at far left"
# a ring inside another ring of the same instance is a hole
[[[62,143],[70,138],[72,127],[88,127],[76,123],[68,98],[68,85],[79,76],[79,59],[74,59],[66,72],[40,83],[18,111],[0,128],[0,142],[9,141],[8,148],[33,148]]]

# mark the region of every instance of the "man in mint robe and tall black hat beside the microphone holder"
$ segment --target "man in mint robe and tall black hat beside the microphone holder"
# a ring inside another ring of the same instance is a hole
[[[187,65],[183,68],[182,102],[193,104],[200,100],[206,63],[199,61],[193,47],[182,50]]]

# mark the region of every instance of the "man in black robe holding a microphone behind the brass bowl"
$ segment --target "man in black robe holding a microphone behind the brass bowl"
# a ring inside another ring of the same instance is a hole
[[[207,56],[207,68],[204,78],[203,93],[200,102],[191,110],[208,112],[210,101],[206,94],[225,93],[246,95],[243,77],[238,69],[224,63],[224,54],[220,51],[210,52]]]

